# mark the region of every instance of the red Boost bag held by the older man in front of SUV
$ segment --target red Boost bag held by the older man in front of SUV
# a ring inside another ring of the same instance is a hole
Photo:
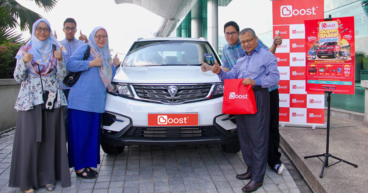
[[[244,115],[257,113],[252,85],[243,86],[244,79],[225,79],[222,113]]]

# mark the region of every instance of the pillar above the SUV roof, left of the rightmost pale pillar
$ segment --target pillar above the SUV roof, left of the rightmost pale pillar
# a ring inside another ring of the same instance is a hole
[[[191,37],[200,38],[203,37],[202,30],[202,1],[198,0],[191,9]]]

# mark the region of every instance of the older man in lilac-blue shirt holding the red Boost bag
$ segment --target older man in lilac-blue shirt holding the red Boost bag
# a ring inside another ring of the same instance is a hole
[[[218,74],[220,80],[243,78],[242,84],[251,84],[257,104],[254,115],[237,115],[237,131],[240,148],[247,172],[244,174],[251,181],[241,190],[250,193],[256,191],[263,184],[267,165],[267,148],[270,120],[270,99],[268,88],[276,85],[280,80],[277,70],[277,59],[269,51],[258,44],[258,37],[251,28],[240,31],[241,47],[245,50],[243,56],[237,60],[230,72],[221,70],[217,61],[212,72]],[[244,150],[243,150],[244,149]]]

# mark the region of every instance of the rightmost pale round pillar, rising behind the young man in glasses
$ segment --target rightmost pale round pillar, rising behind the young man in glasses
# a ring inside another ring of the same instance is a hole
[[[207,1],[207,37],[218,53],[218,0]]]

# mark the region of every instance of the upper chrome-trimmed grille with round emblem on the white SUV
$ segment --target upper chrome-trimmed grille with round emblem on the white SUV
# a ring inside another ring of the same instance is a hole
[[[213,84],[187,84],[187,85],[149,85],[132,84],[136,95],[148,102],[158,102],[163,104],[182,104],[185,102],[206,99]],[[178,91],[175,96],[170,96],[169,86],[177,86]]]

